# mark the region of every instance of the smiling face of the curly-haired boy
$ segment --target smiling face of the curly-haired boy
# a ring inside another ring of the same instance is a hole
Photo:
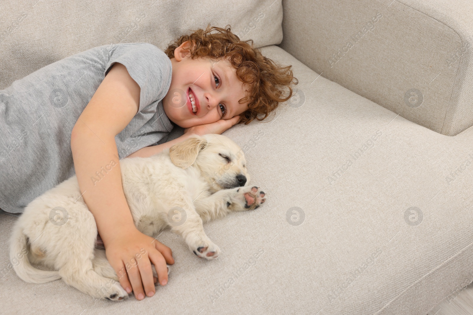
[[[171,59],[171,85],[163,98],[169,120],[177,126],[189,128],[231,119],[246,111],[248,103],[238,103],[246,95],[245,86],[236,77],[236,69],[230,62],[210,58],[192,60],[190,53],[182,49],[187,44],[184,42],[177,47]],[[197,107],[196,113],[193,113],[191,96]]]

